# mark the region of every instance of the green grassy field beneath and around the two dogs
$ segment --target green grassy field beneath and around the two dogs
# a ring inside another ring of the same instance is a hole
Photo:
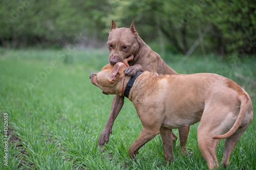
[[[255,58],[232,57],[224,62],[214,55],[162,57],[179,74],[214,72],[236,81],[250,94],[256,107]],[[97,147],[113,96],[102,94],[90,83],[89,75],[107,63],[106,50],[1,48],[0,169],[207,169],[198,149],[198,124],[190,127],[187,140],[192,156],[179,155],[178,140],[175,161],[165,166],[158,135],[140,149],[137,161],[131,161],[129,147],[142,125],[127,99],[115,121],[110,142],[105,148]],[[254,117],[226,169],[256,169],[255,129]],[[178,130],[173,131],[178,135]],[[223,149],[224,140],[217,149],[219,161]]]

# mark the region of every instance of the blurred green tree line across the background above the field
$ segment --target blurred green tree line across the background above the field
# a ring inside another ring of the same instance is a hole
[[[256,55],[255,0],[0,0],[4,47],[97,47],[107,41],[111,20],[135,27],[162,51],[221,56]]]

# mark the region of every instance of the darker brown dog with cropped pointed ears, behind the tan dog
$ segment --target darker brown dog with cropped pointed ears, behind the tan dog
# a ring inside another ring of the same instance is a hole
[[[172,75],[177,74],[175,70],[170,68],[161,57],[151,50],[151,48],[138,36],[135,30],[134,22],[130,29],[117,28],[116,23],[112,20],[111,31],[109,33],[109,39],[106,43],[108,45],[110,55],[109,62],[111,65],[115,65],[117,62],[123,62],[123,60],[131,55],[134,59],[129,62],[131,67],[124,70],[124,74],[127,76],[134,76],[136,72],[147,70],[150,72],[157,72],[160,75]],[[105,124],[103,131],[99,137],[99,145],[109,142],[110,133],[112,133],[112,127],[114,121],[119,114],[124,102],[124,97],[115,95],[109,118]],[[189,127],[183,127],[179,129],[180,147],[183,148],[183,152],[186,153],[186,140],[189,132]],[[165,133],[173,135],[176,141],[177,136],[169,129],[165,129]],[[164,144],[169,144],[172,140],[168,139],[164,141]],[[166,146],[167,147],[167,146]]]

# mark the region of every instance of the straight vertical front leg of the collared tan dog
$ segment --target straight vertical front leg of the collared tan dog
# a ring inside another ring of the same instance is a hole
[[[174,161],[172,129],[161,127],[160,134],[163,142],[164,163],[167,164],[168,161]]]

